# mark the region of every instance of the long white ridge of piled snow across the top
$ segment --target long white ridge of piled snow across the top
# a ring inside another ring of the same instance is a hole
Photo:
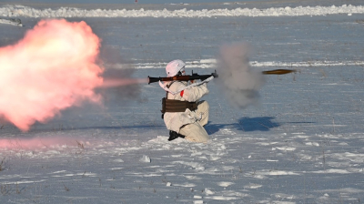
[[[126,9],[80,9],[61,7],[58,9],[35,9],[23,5],[6,5],[0,7],[0,16],[26,17],[214,17],[214,16],[299,16],[299,15],[338,15],[363,14],[362,5],[341,6],[298,6],[271,7],[267,9],[235,8],[235,9],[202,9],[202,10],[126,10]]]

